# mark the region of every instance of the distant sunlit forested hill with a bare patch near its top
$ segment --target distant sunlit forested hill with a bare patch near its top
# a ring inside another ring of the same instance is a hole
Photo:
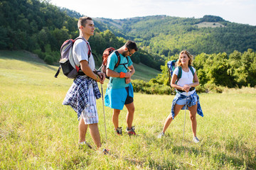
[[[125,38],[139,42],[146,52],[161,57],[170,57],[184,49],[193,55],[202,52],[230,54],[234,50],[245,52],[248,48],[256,50],[256,26],[230,23],[219,16],[146,16],[97,20],[106,23],[113,33],[125,33]]]

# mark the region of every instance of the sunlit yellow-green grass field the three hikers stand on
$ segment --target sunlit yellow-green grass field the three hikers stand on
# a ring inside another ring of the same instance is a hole
[[[184,111],[161,140],[174,96],[134,94],[137,136],[114,135],[112,110],[97,100],[102,149],[78,149],[78,120],[62,106],[72,84],[57,67],[31,60],[26,52],[0,51],[0,169],[256,169],[256,89],[199,94],[204,117],[197,116],[199,144],[192,140]],[[105,91],[107,84],[103,85]],[[119,125],[126,128],[124,109]],[[89,132],[87,142],[93,145]]]

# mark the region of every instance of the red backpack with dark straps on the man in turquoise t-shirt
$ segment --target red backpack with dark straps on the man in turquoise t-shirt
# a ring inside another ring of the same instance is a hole
[[[105,74],[106,74],[106,68],[107,68],[107,58],[110,56],[110,54],[111,54],[112,52],[115,52],[116,55],[117,55],[117,64],[114,65],[114,68],[117,68],[117,67],[119,66],[119,64],[120,64],[120,54],[119,54],[119,52],[117,52],[117,50],[115,50],[113,47],[107,48],[107,49],[104,50],[104,52],[103,52],[103,55],[102,55],[102,66],[101,66],[101,68],[102,68],[101,70],[102,70],[102,72],[104,72]],[[126,57],[126,58],[127,58],[127,57]],[[127,58],[127,63],[128,63],[128,58]],[[125,63],[125,64],[127,64],[127,63]],[[123,64],[124,67],[125,67],[125,64]],[[110,79],[110,77],[107,77],[107,74],[106,74],[106,78],[107,78],[107,79]]]

